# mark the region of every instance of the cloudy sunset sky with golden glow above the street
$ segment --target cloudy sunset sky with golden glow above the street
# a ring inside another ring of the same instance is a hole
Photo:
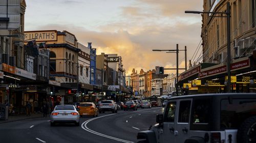
[[[133,68],[176,68],[175,53],[152,49],[187,46],[188,61],[201,40],[201,15],[184,11],[202,11],[203,0],[26,0],[26,5],[25,31],[68,31],[85,46],[92,42],[97,54],[122,56],[126,75]],[[184,60],[180,51],[179,68]]]

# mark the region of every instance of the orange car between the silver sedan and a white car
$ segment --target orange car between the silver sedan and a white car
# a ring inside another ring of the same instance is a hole
[[[96,108],[96,105],[93,102],[80,102],[77,106],[80,110],[79,115],[82,116],[93,116],[98,117],[99,110]]]

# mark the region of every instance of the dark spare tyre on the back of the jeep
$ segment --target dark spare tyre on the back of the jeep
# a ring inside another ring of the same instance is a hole
[[[238,129],[238,143],[256,142],[256,116],[247,118]]]

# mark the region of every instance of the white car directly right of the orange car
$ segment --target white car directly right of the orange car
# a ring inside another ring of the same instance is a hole
[[[101,101],[99,104],[99,113],[104,113],[105,111],[117,113],[117,104],[113,100]]]

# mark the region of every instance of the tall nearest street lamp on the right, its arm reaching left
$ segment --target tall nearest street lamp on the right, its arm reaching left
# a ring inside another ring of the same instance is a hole
[[[212,17],[226,17],[227,18],[227,92],[230,93],[230,84],[231,84],[231,76],[230,76],[230,4],[227,3],[227,11],[226,12],[201,12],[201,11],[185,11],[185,13],[207,13],[207,14],[225,14],[226,16],[212,16]]]

